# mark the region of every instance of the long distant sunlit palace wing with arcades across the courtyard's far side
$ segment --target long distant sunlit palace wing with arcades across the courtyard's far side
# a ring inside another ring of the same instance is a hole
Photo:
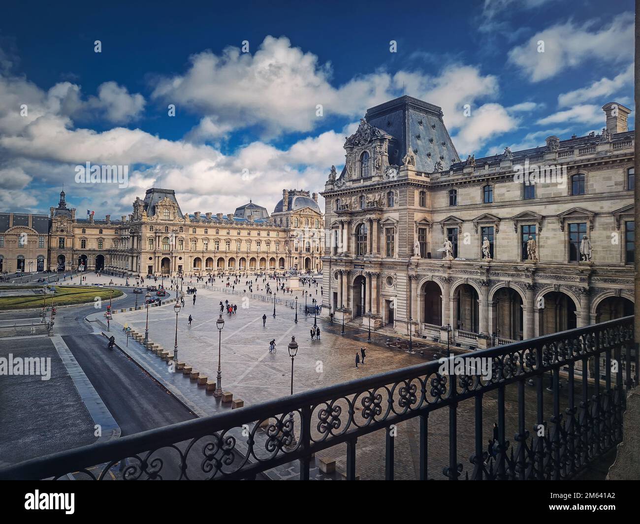
[[[317,194],[284,190],[271,216],[249,202],[229,215],[182,213],[173,190],[152,188],[133,213],[78,218],[65,192],[50,215],[0,213],[3,272],[113,269],[131,275],[322,268]]]

